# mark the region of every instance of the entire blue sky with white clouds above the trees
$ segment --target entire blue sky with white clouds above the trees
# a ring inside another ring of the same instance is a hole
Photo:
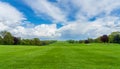
[[[82,40],[120,31],[120,0],[0,0],[0,31]]]

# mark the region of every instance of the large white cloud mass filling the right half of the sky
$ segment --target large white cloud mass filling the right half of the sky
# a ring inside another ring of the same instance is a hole
[[[59,29],[63,39],[65,37],[69,37],[68,39],[96,38],[113,31],[120,31],[120,18],[111,15],[112,11],[119,9],[120,0],[59,0],[58,4],[62,4],[64,7],[62,9],[67,13],[78,9],[77,12],[71,13],[76,14],[76,20],[67,22],[67,25]],[[92,17],[96,17],[96,20],[89,21]],[[83,38],[80,38],[81,36]]]

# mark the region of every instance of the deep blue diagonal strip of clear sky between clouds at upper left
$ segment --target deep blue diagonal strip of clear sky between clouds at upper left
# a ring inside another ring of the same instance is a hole
[[[34,23],[35,25],[38,25],[39,23],[51,23],[50,20],[46,20],[36,16],[34,11],[29,6],[27,6],[23,0],[2,0],[2,1],[7,2],[14,6],[15,8],[17,8],[25,15],[28,21]]]

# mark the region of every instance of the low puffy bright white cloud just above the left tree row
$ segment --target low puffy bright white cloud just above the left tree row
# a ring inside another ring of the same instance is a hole
[[[33,28],[24,28],[22,26],[18,26],[17,28],[11,30],[15,36],[19,36],[22,38],[51,38],[55,39],[60,36],[60,33],[57,32],[56,24],[47,25],[41,24],[35,26]]]

